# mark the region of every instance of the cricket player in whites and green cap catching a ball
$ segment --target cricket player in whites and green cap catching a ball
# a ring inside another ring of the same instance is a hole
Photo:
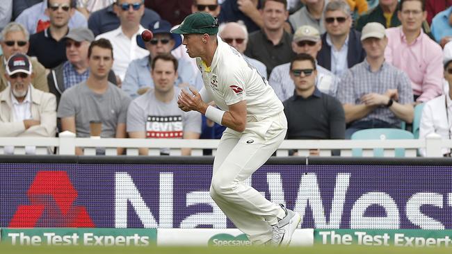
[[[210,14],[188,15],[172,33],[184,35],[182,43],[188,56],[196,58],[204,81],[200,92],[192,87],[181,92],[179,108],[201,112],[227,127],[213,162],[211,197],[253,244],[289,245],[300,215],[243,183],[286,135],[281,101],[255,67],[217,37],[218,20]]]

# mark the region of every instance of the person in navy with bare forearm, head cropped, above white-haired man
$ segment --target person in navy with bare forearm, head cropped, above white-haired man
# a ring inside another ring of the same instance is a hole
[[[200,2],[194,0],[193,3],[195,3],[195,1]],[[266,1],[272,0],[265,0],[264,4]],[[282,3],[282,1],[279,2]],[[285,0],[284,2],[284,10],[286,10],[287,4]],[[206,3],[200,2],[199,4]],[[239,20],[241,20],[243,24],[245,24],[248,33],[258,31],[261,28],[264,28],[264,20],[261,13],[261,8],[264,4],[261,5],[261,1],[259,0],[225,0],[223,3],[221,3],[221,11],[220,9],[218,9],[218,11],[220,12],[220,15],[218,15],[218,20],[220,21],[220,23],[239,22]],[[218,1],[216,1],[216,5],[218,5]]]

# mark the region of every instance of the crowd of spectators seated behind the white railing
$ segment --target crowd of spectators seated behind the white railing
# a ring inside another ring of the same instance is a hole
[[[451,138],[452,0],[6,0],[0,136],[90,137],[100,124],[101,137],[220,138],[223,126],[175,103],[204,85],[170,33],[192,12],[218,17],[218,36],[268,79],[287,139],[410,126],[419,104],[420,138]]]

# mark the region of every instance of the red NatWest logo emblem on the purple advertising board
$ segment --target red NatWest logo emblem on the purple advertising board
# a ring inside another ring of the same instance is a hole
[[[73,205],[78,194],[65,171],[39,171],[27,196],[31,205],[19,205],[10,228],[95,227],[86,208]]]

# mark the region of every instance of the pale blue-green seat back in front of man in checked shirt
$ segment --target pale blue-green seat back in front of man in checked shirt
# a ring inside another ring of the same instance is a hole
[[[358,130],[353,133],[351,139],[414,139],[412,133],[407,130],[396,128],[371,128],[366,130]],[[396,157],[404,157],[405,149],[396,149]],[[353,156],[361,157],[362,149],[353,149]],[[383,157],[383,149],[373,149],[374,157]]]

